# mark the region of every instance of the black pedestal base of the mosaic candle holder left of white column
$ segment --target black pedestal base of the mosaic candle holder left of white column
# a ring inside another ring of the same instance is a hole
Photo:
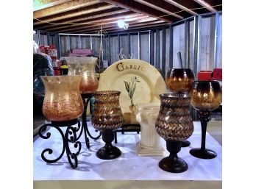
[[[121,156],[121,151],[117,147],[112,145],[112,141],[114,140],[114,132],[110,130],[106,130],[102,132],[102,140],[106,143],[105,146],[100,148],[96,156],[102,160],[112,160],[116,157]]]

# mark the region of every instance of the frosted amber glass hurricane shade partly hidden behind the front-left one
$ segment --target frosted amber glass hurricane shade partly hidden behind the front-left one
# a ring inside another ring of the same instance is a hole
[[[68,63],[68,75],[81,75],[81,93],[94,93],[99,82],[96,76],[96,57],[62,57]]]

